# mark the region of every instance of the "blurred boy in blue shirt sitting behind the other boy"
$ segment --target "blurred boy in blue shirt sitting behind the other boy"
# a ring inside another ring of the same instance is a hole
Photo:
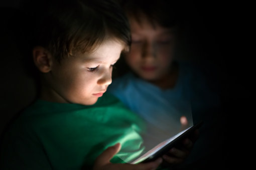
[[[195,142],[186,163],[187,167],[192,167],[195,162],[201,163],[198,166],[207,164],[203,159],[215,149],[210,143],[215,141],[216,136],[212,134],[216,132],[212,125],[217,117],[209,110],[218,109],[219,96],[218,91],[212,91],[211,87],[215,86],[206,81],[198,65],[175,58],[180,21],[177,3],[120,1],[131,25],[131,50],[124,53],[124,65],[127,64],[131,71],[114,79],[109,92],[146,120],[148,129],[143,137],[148,148],[179,132],[183,128],[181,122],[192,125],[203,120],[203,135]],[[179,153],[184,156],[189,151],[173,148],[169,155]],[[181,162],[179,157],[166,155],[164,159]]]

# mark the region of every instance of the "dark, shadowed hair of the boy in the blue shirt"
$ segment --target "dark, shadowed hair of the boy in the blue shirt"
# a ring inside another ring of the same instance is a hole
[[[173,27],[179,24],[178,3],[174,0],[118,0],[127,15],[141,22],[143,14],[154,26]]]

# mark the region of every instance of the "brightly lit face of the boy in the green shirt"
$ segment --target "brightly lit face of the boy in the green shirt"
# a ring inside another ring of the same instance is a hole
[[[112,66],[123,44],[107,40],[91,53],[53,61],[50,74],[51,98],[56,102],[94,104],[111,83]]]

